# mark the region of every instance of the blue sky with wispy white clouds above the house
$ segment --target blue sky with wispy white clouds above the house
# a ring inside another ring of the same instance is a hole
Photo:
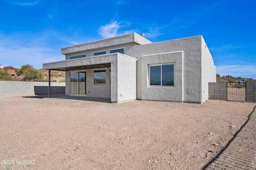
[[[203,35],[217,74],[256,79],[256,0],[0,0],[0,64],[64,60],[61,48],[126,33]]]

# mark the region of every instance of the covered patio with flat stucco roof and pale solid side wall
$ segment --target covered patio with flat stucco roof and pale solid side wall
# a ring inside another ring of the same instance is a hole
[[[136,58],[134,57],[120,53],[111,53],[94,57],[44,63],[43,68],[49,70],[49,80],[50,70],[66,71],[66,96],[64,99],[72,98],[74,100],[80,100],[80,98],[84,98],[84,100],[98,101],[95,98],[101,98],[100,101],[102,101],[104,98],[107,101],[110,99],[111,103],[136,99]],[[104,85],[95,85],[96,72],[106,73],[106,82]],[[78,74],[78,78],[74,78],[73,73]],[[81,86],[80,74],[83,76],[81,82],[84,83]],[[78,84],[78,90],[75,89],[75,83]],[[80,89],[83,90],[81,93]],[[74,92],[78,93],[76,94]],[[50,82],[48,98],[53,98],[50,94]]]

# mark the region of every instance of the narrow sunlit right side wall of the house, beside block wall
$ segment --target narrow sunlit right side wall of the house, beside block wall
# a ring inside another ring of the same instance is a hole
[[[202,101],[209,98],[209,82],[216,82],[216,66],[213,62],[212,55],[202,37]]]

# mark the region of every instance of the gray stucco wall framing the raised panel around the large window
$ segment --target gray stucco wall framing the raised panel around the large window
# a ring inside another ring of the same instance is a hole
[[[188,37],[158,43],[138,45],[132,47],[126,54],[137,57],[137,81],[142,77],[142,65],[140,65],[140,57],[143,55],[156,55],[162,53],[170,53],[175,51],[183,51],[183,101],[184,102],[202,102],[202,36]],[[159,58],[156,58],[155,63],[161,64]],[[146,63],[145,63],[146,64]],[[145,66],[143,66],[145,68]],[[175,66],[176,67],[176,66]],[[143,82],[142,82],[143,83]],[[143,99],[142,87],[140,82],[137,82],[137,98]],[[157,93],[151,94],[158,96]],[[140,98],[142,97],[142,98]],[[161,100],[158,98],[158,100]],[[163,97],[162,100],[165,100]]]

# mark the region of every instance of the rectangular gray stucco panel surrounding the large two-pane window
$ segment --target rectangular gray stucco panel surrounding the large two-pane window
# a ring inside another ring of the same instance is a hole
[[[174,63],[174,87],[149,86],[150,64]],[[141,57],[142,100],[183,101],[183,52],[144,55]]]

